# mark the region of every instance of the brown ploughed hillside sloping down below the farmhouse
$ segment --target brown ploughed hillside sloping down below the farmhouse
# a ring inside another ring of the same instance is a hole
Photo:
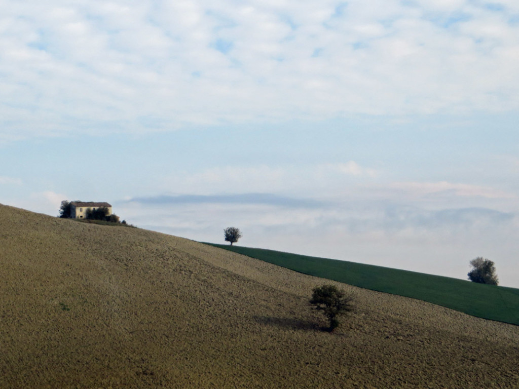
[[[519,327],[186,239],[0,205],[0,388],[518,388]],[[338,283],[337,283],[338,284]]]

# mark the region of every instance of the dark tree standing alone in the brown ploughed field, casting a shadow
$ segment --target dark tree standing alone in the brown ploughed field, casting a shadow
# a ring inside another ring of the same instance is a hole
[[[353,297],[346,296],[344,290],[328,284],[313,288],[310,304],[315,305],[317,310],[323,311],[330,322],[328,330],[332,332],[340,324],[337,316],[353,311],[352,301]]]

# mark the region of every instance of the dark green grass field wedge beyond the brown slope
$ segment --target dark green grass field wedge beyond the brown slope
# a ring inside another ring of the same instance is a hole
[[[519,289],[336,259],[209,244],[300,273],[424,300],[476,317],[519,325]]]

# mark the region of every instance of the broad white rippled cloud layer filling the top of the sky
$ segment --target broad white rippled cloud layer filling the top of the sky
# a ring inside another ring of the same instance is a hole
[[[8,0],[2,137],[517,109],[516,8]]]

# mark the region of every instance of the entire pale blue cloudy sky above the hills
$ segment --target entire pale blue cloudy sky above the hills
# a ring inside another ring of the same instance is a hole
[[[519,288],[518,63],[515,0],[0,0],[0,203]]]

